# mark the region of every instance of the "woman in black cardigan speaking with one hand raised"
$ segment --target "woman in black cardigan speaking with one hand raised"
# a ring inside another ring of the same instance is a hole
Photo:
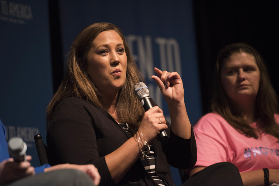
[[[133,86],[144,81],[121,30],[109,23],[84,28],[68,54],[65,78],[47,107],[53,164],[94,164],[100,185],[174,185],[169,165],[196,163],[196,142],[176,72],[151,76],[168,103],[144,111]],[[154,104],[154,103],[153,103]],[[161,130],[167,140],[157,139]]]

